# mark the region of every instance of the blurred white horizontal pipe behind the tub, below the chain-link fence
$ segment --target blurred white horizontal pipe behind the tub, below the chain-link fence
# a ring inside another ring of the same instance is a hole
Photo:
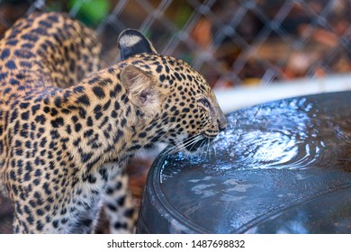
[[[275,82],[270,85],[239,86],[215,90],[214,93],[222,111],[227,113],[242,107],[294,96],[347,90],[351,90],[351,74]]]

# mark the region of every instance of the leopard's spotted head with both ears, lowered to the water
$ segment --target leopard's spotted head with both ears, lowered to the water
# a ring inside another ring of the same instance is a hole
[[[160,55],[139,31],[122,31],[121,83],[147,120],[139,136],[194,152],[227,121],[204,77],[181,59]],[[148,146],[148,144],[147,144]]]

